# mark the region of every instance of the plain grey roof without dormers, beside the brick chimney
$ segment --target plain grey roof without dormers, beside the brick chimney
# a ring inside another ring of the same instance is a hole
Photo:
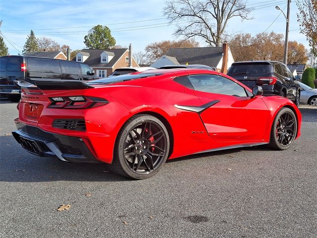
[[[165,56],[176,58],[180,64],[204,64],[215,68],[222,58],[222,46],[169,48]]]

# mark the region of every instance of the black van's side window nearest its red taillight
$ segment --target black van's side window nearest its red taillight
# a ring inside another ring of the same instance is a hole
[[[57,60],[28,58],[27,62],[30,72],[60,73]]]

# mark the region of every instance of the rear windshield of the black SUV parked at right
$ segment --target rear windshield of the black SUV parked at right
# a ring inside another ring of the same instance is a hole
[[[229,75],[259,75],[259,74],[267,74],[272,70],[271,64],[233,64],[228,70]]]

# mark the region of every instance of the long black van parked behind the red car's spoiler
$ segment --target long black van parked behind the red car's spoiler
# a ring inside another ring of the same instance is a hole
[[[21,90],[13,84],[14,80],[39,78],[93,80],[100,77],[87,64],[76,61],[32,56],[0,57],[0,95],[6,95],[9,101],[20,99]]]

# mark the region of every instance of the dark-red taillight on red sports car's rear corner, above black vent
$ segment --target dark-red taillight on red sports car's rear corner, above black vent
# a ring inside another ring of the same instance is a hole
[[[59,109],[86,109],[103,106],[109,103],[106,99],[86,97],[86,96],[72,96],[72,97],[53,97],[49,98],[51,104],[49,108]]]

